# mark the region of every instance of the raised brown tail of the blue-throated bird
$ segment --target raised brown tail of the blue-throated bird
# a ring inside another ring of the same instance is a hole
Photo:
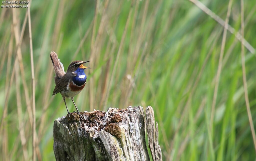
[[[58,55],[55,52],[51,52],[50,54],[52,65],[54,67],[54,73],[56,74],[56,78],[61,78],[66,72],[64,71],[63,64],[58,59]]]

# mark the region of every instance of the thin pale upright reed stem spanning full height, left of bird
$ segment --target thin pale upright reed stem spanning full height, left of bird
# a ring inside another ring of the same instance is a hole
[[[31,77],[32,77],[32,104],[33,104],[33,161],[36,160],[36,83],[34,71],[34,57],[33,57],[33,44],[32,44],[32,31],[31,31],[31,17],[30,5],[28,4],[28,28],[29,28],[29,43],[30,43],[30,63],[31,63]]]

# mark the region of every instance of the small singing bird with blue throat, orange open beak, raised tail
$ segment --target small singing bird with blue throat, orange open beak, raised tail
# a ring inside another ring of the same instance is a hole
[[[55,95],[60,92],[65,102],[68,114],[70,114],[65,98],[71,98],[72,102],[74,103],[74,96],[80,93],[84,88],[87,79],[86,74],[84,73],[84,69],[90,67],[83,66],[83,64],[89,61],[73,61],[68,66],[68,70],[66,73],[64,71],[63,64],[60,62],[60,59],[58,58],[58,55],[55,52],[51,52],[50,57],[52,65],[54,67],[54,72],[56,74],[56,76],[54,77],[56,86],[54,88],[52,95]],[[75,103],[74,105],[77,109]],[[77,113],[80,114],[78,109]]]

